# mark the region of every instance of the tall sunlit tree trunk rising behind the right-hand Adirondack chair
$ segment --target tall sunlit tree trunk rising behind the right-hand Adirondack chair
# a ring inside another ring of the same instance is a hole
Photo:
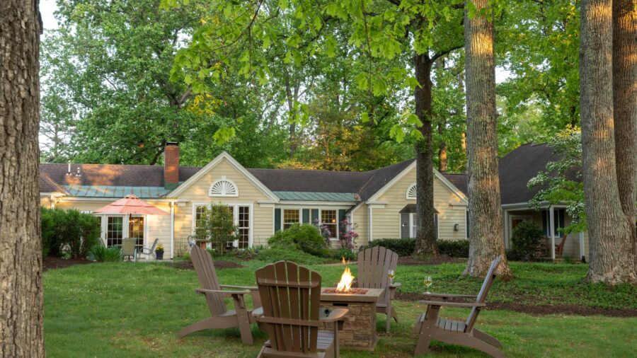
[[[488,0],[472,2],[478,10],[488,4]],[[469,261],[463,275],[484,277],[491,262],[502,255],[499,272],[509,278],[512,274],[504,250],[495,129],[493,21],[484,15],[469,18],[465,11],[464,23],[470,243]]]

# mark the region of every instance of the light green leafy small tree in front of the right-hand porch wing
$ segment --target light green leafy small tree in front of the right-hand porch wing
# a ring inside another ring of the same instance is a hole
[[[558,160],[546,163],[544,171],[529,180],[529,189],[540,187],[529,206],[540,209],[545,202],[566,204],[566,212],[572,221],[563,229],[564,233],[586,231],[580,128],[568,125],[549,140],[549,146]]]

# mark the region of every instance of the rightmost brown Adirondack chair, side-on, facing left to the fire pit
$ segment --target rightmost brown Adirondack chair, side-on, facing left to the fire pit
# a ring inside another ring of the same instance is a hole
[[[501,258],[498,256],[491,263],[478,296],[429,294],[430,300],[420,301],[421,304],[427,304],[427,312],[416,319],[413,328],[414,332],[418,334],[418,344],[415,347],[414,355],[427,353],[431,340],[440,340],[440,342],[452,345],[475,348],[491,357],[504,357],[502,352],[498,350],[499,347],[502,347],[500,341],[474,328],[480,309],[486,306],[485,299],[495,279],[495,268],[500,264],[500,260]],[[469,302],[468,299],[475,299],[475,301]],[[471,308],[471,313],[465,322],[451,321],[438,316],[441,306]]]

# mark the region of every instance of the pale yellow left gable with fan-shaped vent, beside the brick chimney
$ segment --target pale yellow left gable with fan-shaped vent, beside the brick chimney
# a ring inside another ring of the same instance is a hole
[[[277,201],[268,187],[226,152],[219,154],[167,196],[206,202],[228,199]]]

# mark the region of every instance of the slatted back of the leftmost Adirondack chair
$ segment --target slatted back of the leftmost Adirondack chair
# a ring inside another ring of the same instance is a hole
[[[193,246],[190,250],[190,259],[193,260],[193,266],[195,266],[202,289],[221,289],[210,253],[199,246]],[[224,304],[222,294],[205,294],[205,296],[212,316],[226,313],[226,304]]]

